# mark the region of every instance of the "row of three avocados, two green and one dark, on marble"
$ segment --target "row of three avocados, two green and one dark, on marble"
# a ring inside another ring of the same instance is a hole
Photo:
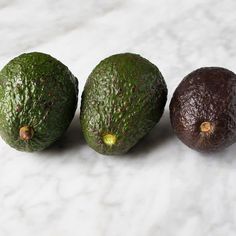
[[[70,125],[78,80],[48,54],[32,52],[0,71],[0,135],[20,151],[40,151]],[[159,69],[132,53],[101,61],[85,84],[80,122],[88,145],[101,154],[129,151],[160,120],[167,86]],[[236,142],[236,75],[204,67],[187,75],[170,102],[179,139],[198,151],[218,151]]]

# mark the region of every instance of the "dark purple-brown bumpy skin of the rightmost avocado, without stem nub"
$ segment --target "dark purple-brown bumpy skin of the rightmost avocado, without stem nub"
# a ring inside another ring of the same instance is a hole
[[[236,141],[236,75],[224,68],[200,68],[187,75],[170,103],[172,127],[198,151],[218,151]],[[202,122],[213,131],[201,132]]]

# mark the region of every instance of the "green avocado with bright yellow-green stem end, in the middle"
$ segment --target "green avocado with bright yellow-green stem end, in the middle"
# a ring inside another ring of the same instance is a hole
[[[80,121],[90,147],[101,154],[126,153],[159,121],[167,99],[158,68],[123,53],[101,61],[85,84]]]

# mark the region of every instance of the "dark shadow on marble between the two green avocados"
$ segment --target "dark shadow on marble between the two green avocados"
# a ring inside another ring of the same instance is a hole
[[[82,130],[80,127],[79,115],[76,114],[72,120],[67,131],[62,135],[60,139],[54,142],[51,146],[42,151],[47,154],[59,154],[66,152],[67,150],[76,150],[81,146],[86,145]]]

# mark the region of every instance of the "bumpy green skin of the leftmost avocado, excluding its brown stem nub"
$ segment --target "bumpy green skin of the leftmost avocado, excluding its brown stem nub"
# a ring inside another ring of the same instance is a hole
[[[50,55],[32,52],[11,60],[0,72],[0,134],[19,151],[40,151],[68,128],[77,107],[78,81]],[[24,141],[19,129],[30,126]]]

